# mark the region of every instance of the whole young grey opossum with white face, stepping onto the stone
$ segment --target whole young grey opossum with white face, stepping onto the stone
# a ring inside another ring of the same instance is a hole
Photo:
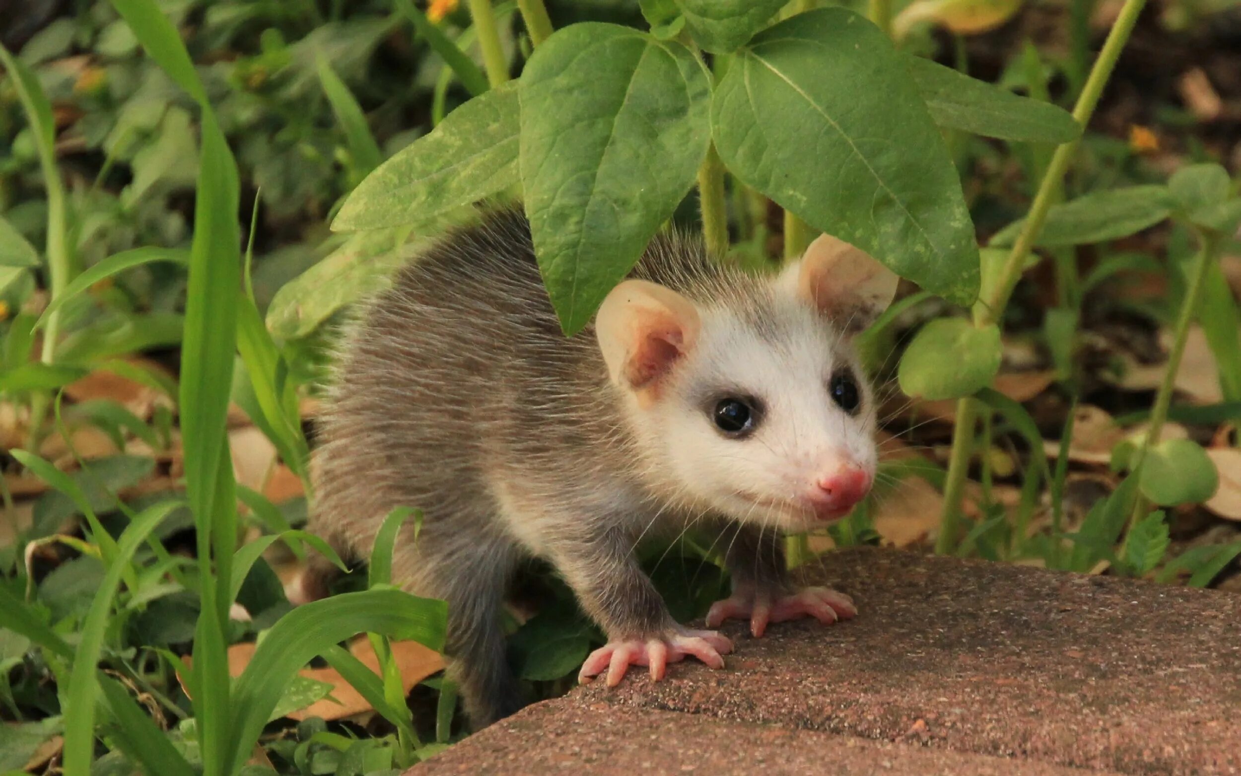
[[[614,685],[629,665],[660,679],[686,656],[720,668],[731,651],[676,623],[639,570],[634,545],[655,530],[727,530],[733,591],[709,627],[851,617],[841,593],[793,590],[781,531],[839,519],[870,488],[875,402],[849,335],[896,281],[833,237],[757,277],[660,236],[594,327],[566,338],[525,217],[493,214],[405,267],[346,338],[311,529],[366,557],[391,509],[424,512],[393,580],[448,601],[449,669],[475,728],[521,705],[500,607],[527,554],[609,638],[583,680],[606,669]]]

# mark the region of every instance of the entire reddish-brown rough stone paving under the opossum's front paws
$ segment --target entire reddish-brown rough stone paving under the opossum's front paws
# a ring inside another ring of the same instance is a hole
[[[585,757],[633,769],[659,752],[653,772],[692,772],[679,769],[751,757],[767,735],[781,744],[764,756],[830,749],[824,772],[872,772],[895,752],[897,774],[1241,774],[1241,596],[872,549],[827,555],[805,576],[850,593],[858,618],[781,623],[762,639],[732,623],[724,670],[681,663],[660,683],[632,672],[583,688],[436,767],[474,757],[478,770],[442,772],[534,774],[578,752],[582,772],[607,774]],[[656,725],[658,747],[640,733]],[[953,752],[963,759],[937,760]]]

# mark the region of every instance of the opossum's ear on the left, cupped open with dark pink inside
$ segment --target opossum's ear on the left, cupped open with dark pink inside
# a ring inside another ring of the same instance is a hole
[[[624,281],[613,288],[594,319],[612,381],[634,391],[654,387],[694,348],[697,333],[694,303],[647,281]]]

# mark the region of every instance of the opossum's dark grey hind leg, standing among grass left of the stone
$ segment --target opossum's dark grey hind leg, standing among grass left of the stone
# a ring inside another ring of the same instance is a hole
[[[449,526],[444,526],[449,528]],[[418,595],[448,602],[448,639],[444,658],[448,677],[457,683],[470,725],[479,730],[525,705],[521,685],[509,669],[500,613],[516,562],[516,550],[505,540],[459,533],[423,531],[418,548],[395,559],[393,570],[416,581]]]

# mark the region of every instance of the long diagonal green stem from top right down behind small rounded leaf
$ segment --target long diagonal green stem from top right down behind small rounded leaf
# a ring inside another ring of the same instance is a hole
[[[875,0],[875,2],[879,1]],[[1112,25],[1112,31],[1103,43],[1103,50],[1100,51],[1098,58],[1095,60],[1090,78],[1087,78],[1086,86],[1077,98],[1077,104],[1073,107],[1073,118],[1083,132],[1090,123],[1091,115],[1095,113],[1095,107],[1103,93],[1103,87],[1107,86],[1107,79],[1111,77],[1112,70],[1121,57],[1121,50],[1128,42],[1129,34],[1133,32],[1133,26],[1137,24],[1138,15],[1144,6],[1145,0],[1124,0],[1124,6],[1121,7],[1121,14],[1117,16],[1116,24]],[[999,281],[993,287],[992,293],[985,299],[980,299],[979,304],[974,305],[974,325],[979,328],[993,325],[1004,314],[1009,297],[1013,294],[1013,289],[1021,277],[1021,268],[1025,266],[1025,259],[1030,255],[1039,232],[1042,231],[1047,210],[1059,194],[1065,173],[1069,170],[1069,163],[1077,151],[1080,143],[1081,138],[1065,143],[1052,155],[1051,163],[1042,175],[1042,181],[1039,184],[1034,204],[1030,206],[1030,215],[1026,216],[1021,233],[1018,236],[1013,251],[1004,262]],[[963,435],[962,430],[965,430],[968,433]],[[953,448],[948,466],[948,477],[944,483],[943,514],[941,517],[939,536],[936,541],[936,553],[941,555],[952,551],[957,526],[961,521],[961,497],[964,490],[964,478],[969,464],[969,447],[973,443],[970,438],[973,430],[973,401],[969,397],[964,397],[957,402],[957,427],[952,441]]]

